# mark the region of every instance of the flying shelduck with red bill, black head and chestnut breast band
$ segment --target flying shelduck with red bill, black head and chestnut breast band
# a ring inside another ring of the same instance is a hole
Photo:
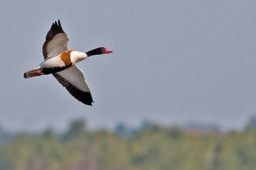
[[[93,99],[88,84],[76,63],[92,55],[111,53],[106,47],[95,48],[89,52],[77,52],[68,48],[67,34],[63,31],[60,20],[54,22],[46,35],[43,45],[44,62],[31,71],[24,73],[24,78],[52,74],[68,92],[81,103],[92,106]]]

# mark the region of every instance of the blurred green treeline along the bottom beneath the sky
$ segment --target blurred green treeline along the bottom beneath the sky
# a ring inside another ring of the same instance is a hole
[[[2,170],[252,170],[256,128],[195,133],[146,125],[132,134],[88,131],[81,120],[67,132],[15,134],[0,146]]]

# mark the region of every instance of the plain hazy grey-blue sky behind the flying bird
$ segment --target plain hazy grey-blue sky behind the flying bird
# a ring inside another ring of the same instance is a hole
[[[0,124],[58,130],[75,118],[90,128],[215,122],[241,128],[256,112],[256,1],[5,1],[1,16]],[[24,79],[42,62],[52,22],[69,47],[114,53],[79,63],[92,107],[53,76]]]

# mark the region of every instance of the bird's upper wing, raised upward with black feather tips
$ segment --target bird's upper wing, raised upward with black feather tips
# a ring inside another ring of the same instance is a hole
[[[54,22],[46,35],[43,45],[44,59],[47,60],[63,52],[67,52],[68,40],[67,34],[61,27],[60,20],[58,20],[58,24]]]

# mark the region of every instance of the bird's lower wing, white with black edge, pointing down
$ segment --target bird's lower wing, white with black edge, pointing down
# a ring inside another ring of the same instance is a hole
[[[52,75],[78,101],[92,106],[92,94],[84,78],[83,71],[81,71],[76,65],[63,71],[52,73]]]

